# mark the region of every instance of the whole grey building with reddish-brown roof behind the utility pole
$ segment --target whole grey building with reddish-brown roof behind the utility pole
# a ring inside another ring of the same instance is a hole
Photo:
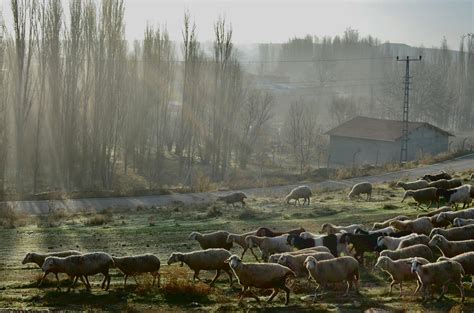
[[[393,163],[400,161],[402,121],[358,116],[326,133],[329,166]],[[408,124],[408,160],[448,151],[449,136],[429,123]]]

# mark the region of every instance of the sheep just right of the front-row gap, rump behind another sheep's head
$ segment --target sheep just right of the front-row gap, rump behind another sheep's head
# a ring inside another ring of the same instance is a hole
[[[417,258],[421,264],[428,264],[430,263],[427,259]],[[411,272],[411,261],[413,258],[408,259],[400,259],[400,260],[392,260],[386,256],[380,256],[377,259],[377,263],[375,263],[375,268],[386,272],[390,275],[392,282],[390,283],[390,291],[388,292],[389,295],[392,294],[393,285],[399,284],[400,285],[400,297],[402,296],[402,283],[405,281],[416,280],[416,289],[413,294],[416,294],[418,290],[421,288],[420,281],[418,280],[418,276],[415,273]]]

